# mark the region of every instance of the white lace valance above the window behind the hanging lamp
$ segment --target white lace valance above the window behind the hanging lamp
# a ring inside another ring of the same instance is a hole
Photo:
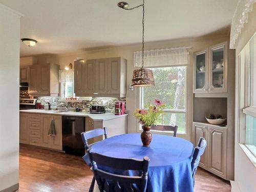
[[[144,51],[144,67],[184,66],[189,64],[189,48]],[[134,52],[134,67],[141,67],[142,51]]]

